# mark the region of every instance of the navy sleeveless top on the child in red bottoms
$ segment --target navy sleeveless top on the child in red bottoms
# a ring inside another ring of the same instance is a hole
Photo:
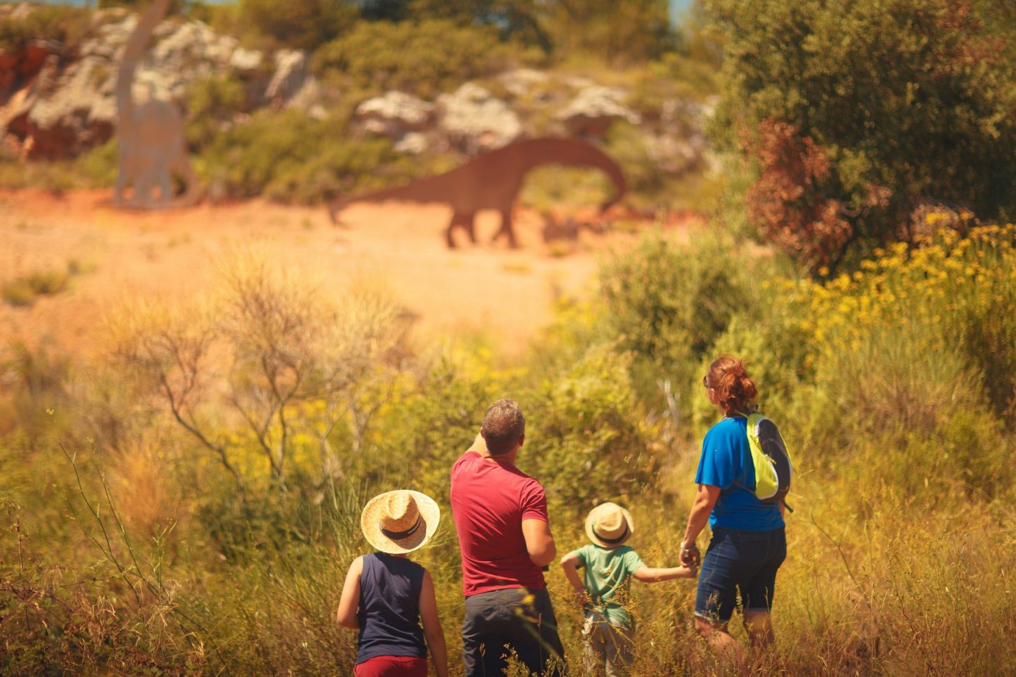
[[[427,658],[420,626],[424,567],[383,552],[364,555],[360,573],[357,663],[377,656]]]

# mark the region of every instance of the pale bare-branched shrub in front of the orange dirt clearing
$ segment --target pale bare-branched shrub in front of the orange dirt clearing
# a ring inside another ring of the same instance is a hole
[[[378,386],[392,384],[407,356],[408,328],[376,281],[337,298],[324,290],[266,249],[244,249],[220,267],[210,296],[118,314],[109,323],[111,357],[213,455],[241,494],[250,450],[284,489],[308,438],[318,447],[318,467],[299,470],[321,485],[341,473],[332,432],[347,420],[353,438],[363,438],[386,399]]]

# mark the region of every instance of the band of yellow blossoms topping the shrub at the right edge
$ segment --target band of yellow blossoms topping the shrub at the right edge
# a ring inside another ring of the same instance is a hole
[[[973,359],[1016,363],[1010,362],[1016,358],[1016,320],[1008,317],[1016,302],[1014,243],[1012,224],[976,227],[964,238],[945,229],[923,247],[897,243],[876,250],[876,258],[862,262],[852,275],[828,282],[782,280],[777,285],[799,328],[810,334],[817,348],[809,362],[859,348],[876,328],[923,325],[941,330]],[[982,354],[977,344],[991,344],[995,354]],[[1009,357],[1001,354],[1007,351]],[[1011,368],[993,371],[996,377],[1008,373],[1012,379]],[[997,398],[993,402],[1003,403]]]

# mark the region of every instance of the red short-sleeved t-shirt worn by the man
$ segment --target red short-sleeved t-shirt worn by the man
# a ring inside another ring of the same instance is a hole
[[[515,466],[466,452],[451,467],[451,511],[462,551],[463,595],[547,587],[522,536],[522,520],[550,521],[539,482]]]

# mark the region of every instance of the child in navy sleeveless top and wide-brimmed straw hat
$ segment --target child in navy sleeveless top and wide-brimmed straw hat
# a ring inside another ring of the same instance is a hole
[[[428,647],[438,677],[448,677],[434,581],[405,556],[431,540],[440,518],[434,499],[419,491],[388,491],[364,507],[360,528],[378,552],[350,564],[335,614],[360,630],[356,677],[427,677]]]

